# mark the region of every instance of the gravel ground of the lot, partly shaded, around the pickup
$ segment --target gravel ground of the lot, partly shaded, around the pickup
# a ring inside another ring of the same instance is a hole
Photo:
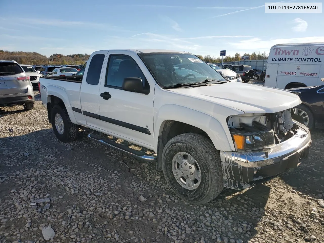
[[[34,110],[0,109],[0,243],[324,242],[324,130],[297,169],[193,206],[154,164],[84,133],[59,142],[35,95]]]

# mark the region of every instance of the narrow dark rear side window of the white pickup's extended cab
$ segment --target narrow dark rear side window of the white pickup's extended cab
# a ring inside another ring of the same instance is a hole
[[[104,59],[105,54],[96,54],[92,57],[86,77],[88,84],[98,85]]]

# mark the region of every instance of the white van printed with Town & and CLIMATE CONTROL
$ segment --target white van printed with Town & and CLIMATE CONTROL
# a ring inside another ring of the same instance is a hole
[[[270,49],[264,86],[288,89],[323,85],[324,43],[278,44]]]

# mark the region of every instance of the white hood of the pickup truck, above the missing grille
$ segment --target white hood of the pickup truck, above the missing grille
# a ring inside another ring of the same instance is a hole
[[[300,98],[283,89],[253,84],[228,82],[210,86],[189,86],[168,89],[186,96],[209,100],[244,113],[274,113],[301,103]]]

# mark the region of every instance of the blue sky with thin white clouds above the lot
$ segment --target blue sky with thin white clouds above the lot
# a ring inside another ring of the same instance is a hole
[[[324,42],[323,13],[266,14],[264,0],[0,0],[0,9],[0,50],[47,56],[156,48],[219,57]]]

